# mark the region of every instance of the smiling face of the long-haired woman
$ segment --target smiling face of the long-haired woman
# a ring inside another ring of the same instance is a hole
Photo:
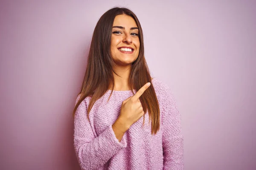
[[[115,17],[112,36],[111,54],[117,65],[131,65],[140,52],[139,29],[135,20],[125,14]]]

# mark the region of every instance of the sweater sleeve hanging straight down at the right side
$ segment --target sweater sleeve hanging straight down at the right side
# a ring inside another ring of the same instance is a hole
[[[169,87],[163,113],[163,170],[183,170],[183,135],[177,102]]]

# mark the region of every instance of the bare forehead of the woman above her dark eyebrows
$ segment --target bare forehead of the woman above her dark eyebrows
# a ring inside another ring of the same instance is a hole
[[[125,14],[116,15],[113,26],[123,26],[125,28],[137,27],[135,20]]]

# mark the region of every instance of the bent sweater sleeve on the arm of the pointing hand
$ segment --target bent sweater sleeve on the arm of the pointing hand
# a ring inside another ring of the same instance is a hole
[[[76,99],[76,103],[79,97],[80,95]],[[94,136],[90,121],[87,119],[87,104],[83,100],[74,117],[74,147],[81,169],[94,170],[102,167],[126,146],[124,138],[120,142],[116,139],[112,125],[109,125],[98,136]]]

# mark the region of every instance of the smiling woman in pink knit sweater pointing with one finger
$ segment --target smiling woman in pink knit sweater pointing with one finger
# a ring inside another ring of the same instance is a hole
[[[111,8],[96,24],[73,116],[83,170],[183,169],[176,101],[151,78],[140,22],[127,8]]]

